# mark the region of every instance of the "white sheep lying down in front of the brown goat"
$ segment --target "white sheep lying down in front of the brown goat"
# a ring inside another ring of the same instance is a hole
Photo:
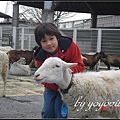
[[[11,64],[11,67],[9,69],[9,74],[30,76],[31,68],[29,67],[29,65],[25,65],[25,64],[26,64],[25,58],[21,57],[18,61]]]

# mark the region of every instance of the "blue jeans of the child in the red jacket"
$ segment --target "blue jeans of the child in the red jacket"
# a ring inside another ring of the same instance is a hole
[[[45,88],[42,118],[65,118],[61,115],[62,100],[58,91]]]

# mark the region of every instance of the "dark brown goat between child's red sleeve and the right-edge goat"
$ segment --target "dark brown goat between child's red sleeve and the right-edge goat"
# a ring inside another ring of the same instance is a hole
[[[85,66],[89,66],[90,70],[93,70],[97,62],[104,57],[104,52],[97,52],[94,55],[82,54],[83,57],[87,58],[87,60],[83,59]]]

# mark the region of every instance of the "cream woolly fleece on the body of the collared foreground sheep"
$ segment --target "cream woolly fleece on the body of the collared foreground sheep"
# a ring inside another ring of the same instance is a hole
[[[99,115],[100,109],[98,105],[96,107],[88,107],[89,105],[92,105],[92,103],[117,102],[120,100],[118,85],[120,84],[120,71],[75,74],[73,79],[73,86],[68,91],[68,94],[64,95],[64,101],[70,109],[69,114],[71,116],[75,114],[80,118],[95,118]],[[81,106],[73,107],[79,97],[81,97],[79,100]],[[113,110],[113,107],[111,109]]]

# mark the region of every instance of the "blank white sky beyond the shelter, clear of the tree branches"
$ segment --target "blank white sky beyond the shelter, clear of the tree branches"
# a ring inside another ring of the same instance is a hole
[[[7,3],[8,3],[8,6],[6,9]],[[13,4],[13,2],[11,2],[11,1],[0,1],[0,12],[10,15],[12,17],[12,15],[13,15],[13,5],[12,4]],[[19,9],[19,12],[22,12],[22,11]],[[91,18],[91,14],[77,13],[74,17],[71,17],[69,19],[64,19],[63,21],[83,20],[83,19],[89,19],[89,18]],[[2,19],[0,18],[0,20],[2,20]]]

